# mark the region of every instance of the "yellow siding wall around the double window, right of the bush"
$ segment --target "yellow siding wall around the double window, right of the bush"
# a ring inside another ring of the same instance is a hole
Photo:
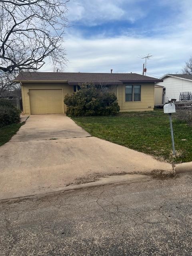
[[[141,84],[141,101],[125,101],[125,85],[118,86],[120,112],[154,110],[154,84]]]

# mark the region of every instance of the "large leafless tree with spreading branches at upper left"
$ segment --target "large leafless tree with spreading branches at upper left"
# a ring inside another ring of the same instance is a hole
[[[66,0],[0,0],[0,70],[38,70],[66,63]],[[2,74],[2,73],[1,73]],[[0,74],[0,75],[1,75]]]

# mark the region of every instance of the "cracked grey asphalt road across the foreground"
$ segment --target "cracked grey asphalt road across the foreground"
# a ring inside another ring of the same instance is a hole
[[[0,255],[190,256],[192,174],[0,203]]]

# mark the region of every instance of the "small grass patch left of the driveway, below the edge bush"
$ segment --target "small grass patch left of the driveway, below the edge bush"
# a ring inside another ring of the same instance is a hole
[[[25,122],[0,127],[0,146],[8,142]]]

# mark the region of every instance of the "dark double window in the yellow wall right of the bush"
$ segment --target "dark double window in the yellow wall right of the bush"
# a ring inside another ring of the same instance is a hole
[[[126,85],[125,86],[125,101],[141,101],[141,86]]]

